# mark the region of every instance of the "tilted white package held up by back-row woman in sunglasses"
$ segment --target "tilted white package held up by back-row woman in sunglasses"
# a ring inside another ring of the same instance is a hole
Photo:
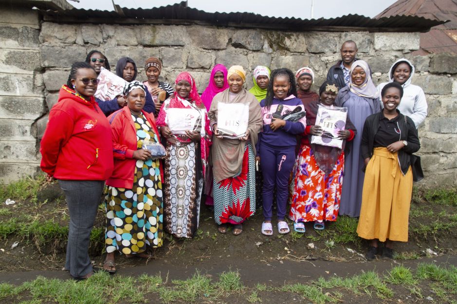
[[[98,86],[95,97],[102,101],[113,100],[119,95],[123,95],[127,81],[111,73],[108,69],[101,67],[98,75]]]

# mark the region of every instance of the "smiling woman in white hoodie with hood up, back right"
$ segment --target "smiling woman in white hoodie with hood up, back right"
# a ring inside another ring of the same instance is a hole
[[[415,68],[407,59],[397,60],[389,70],[389,82],[378,85],[378,92],[383,90],[384,85],[396,82],[403,87],[403,98],[398,110],[405,116],[413,119],[416,128],[427,116],[427,101],[425,94],[419,85],[411,84]]]

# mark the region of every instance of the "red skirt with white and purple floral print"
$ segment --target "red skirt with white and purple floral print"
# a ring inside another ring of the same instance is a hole
[[[319,169],[309,146],[297,157],[289,218],[294,222],[335,221],[343,184],[344,153],[338,157],[329,175]]]

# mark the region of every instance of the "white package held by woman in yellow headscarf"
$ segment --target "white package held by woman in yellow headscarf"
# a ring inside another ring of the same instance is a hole
[[[226,138],[241,138],[249,122],[248,103],[218,103],[218,131]]]

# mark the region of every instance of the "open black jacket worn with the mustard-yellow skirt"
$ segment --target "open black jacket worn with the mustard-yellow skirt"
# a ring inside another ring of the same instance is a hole
[[[397,110],[400,118],[398,120],[398,127],[401,134],[399,140],[406,140],[408,145],[398,152],[398,161],[403,175],[408,172],[411,166],[411,154],[419,151],[420,142],[416,126],[413,120],[404,116]],[[370,115],[366,118],[364,130],[362,133],[362,141],[360,143],[360,155],[363,159],[371,158],[373,155],[374,136],[379,130],[379,120],[384,117],[383,111]]]

